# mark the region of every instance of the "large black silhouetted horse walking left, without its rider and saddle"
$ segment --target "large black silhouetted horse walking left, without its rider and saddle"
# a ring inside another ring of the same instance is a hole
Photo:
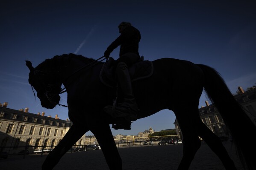
[[[99,75],[105,63],[74,54],[56,55],[35,68],[30,61],[26,61],[30,71],[29,84],[37,92],[42,107],[56,107],[62,92],[61,86],[65,86],[68,116],[73,122],[70,130],[45,159],[42,170],[52,170],[89,130],[95,135],[109,169],[122,170],[122,159],[109,127],[115,118],[103,110],[105,106],[112,105],[116,97],[116,86],[106,86],[100,80]],[[150,77],[132,82],[139,107],[137,116],[138,119],[145,118],[162,109],[174,112],[183,135],[183,155],[177,169],[188,170],[201,146],[201,138],[218,156],[226,170],[237,170],[221,139],[200,119],[199,98],[205,90],[226,123],[244,167],[255,170],[256,161],[250,156],[256,153],[255,143],[246,140],[245,144],[244,138],[255,134],[256,127],[235,100],[221,75],[210,66],[174,58],[160,58],[152,63],[153,74]],[[184,104],[184,98],[189,102]]]

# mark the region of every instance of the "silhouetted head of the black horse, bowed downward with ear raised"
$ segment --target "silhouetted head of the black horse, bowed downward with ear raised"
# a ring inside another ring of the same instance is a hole
[[[44,63],[33,67],[30,61],[26,61],[29,68],[29,84],[34,87],[37,97],[41,101],[41,106],[47,109],[53,109],[59,104],[62,82],[56,71],[47,67]]]

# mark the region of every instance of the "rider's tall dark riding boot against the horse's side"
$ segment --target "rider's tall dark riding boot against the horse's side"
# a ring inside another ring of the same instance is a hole
[[[116,68],[118,84],[124,95],[124,103],[119,104],[115,108],[113,106],[104,107],[104,111],[113,117],[125,117],[129,121],[137,120],[138,106],[136,104],[131,79],[128,71],[128,66],[124,62],[119,62]]]

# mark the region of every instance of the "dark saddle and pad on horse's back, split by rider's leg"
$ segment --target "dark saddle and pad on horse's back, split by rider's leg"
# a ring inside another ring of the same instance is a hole
[[[114,58],[109,57],[109,60],[103,64],[100,70],[100,81],[108,87],[116,87],[118,84],[115,78],[115,66],[116,61]],[[153,63],[151,61],[144,61],[144,57],[141,58],[129,67],[129,74],[131,82],[138,81],[144,78],[148,78],[153,74]]]

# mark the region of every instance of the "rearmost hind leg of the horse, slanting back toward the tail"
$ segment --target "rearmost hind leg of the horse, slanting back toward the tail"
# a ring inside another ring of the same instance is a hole
[[[202,121],[199,122],[198,135],[203,139],[203,141],[208,144],[211,150],[220,158],[222,164],[226,170],[236,170],[235,164],[227,153],[226,148],[223,146],[221,139],[215,135],[208,127],[203,124]]]

